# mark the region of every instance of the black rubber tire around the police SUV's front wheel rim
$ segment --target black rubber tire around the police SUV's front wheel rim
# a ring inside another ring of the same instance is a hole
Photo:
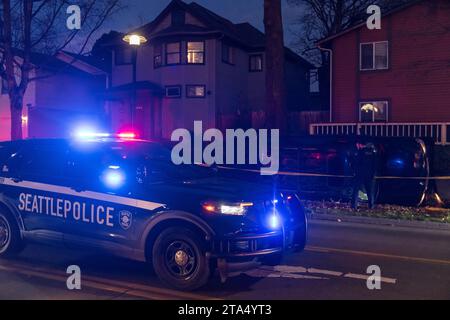
[[[165,262],[165,253],[174,241],[183,241],[191,246],[196,256],[195,271],[187,278],[174,277]],[[210,277],[210,267],[206,258],[204,242],[192,230],[171,227],[161,232],[153,245],[153,268],[158,278],[166,285],[178,290],[192,291],[204,286]]]

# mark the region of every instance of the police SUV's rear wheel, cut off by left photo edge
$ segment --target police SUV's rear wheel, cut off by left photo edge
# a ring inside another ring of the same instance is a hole
[[[10,214],[0,212],[0,257],[17,254],[23,247],[16,220]]]

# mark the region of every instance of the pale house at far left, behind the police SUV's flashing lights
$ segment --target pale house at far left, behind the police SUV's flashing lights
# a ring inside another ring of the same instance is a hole
[[[16,57],[21,53],[17,50]],[[105,126],[102,93],[108,72],[93,57],[33,52],[23,99],[23,138],[69,137],[78,125]],[[10,100],[0,84],[0,141],[11,139]]]

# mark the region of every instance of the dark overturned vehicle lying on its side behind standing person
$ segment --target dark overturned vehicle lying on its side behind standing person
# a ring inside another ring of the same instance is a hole
[[[271,179],[303,199],[349,200],[353,189],[352,156],[356,144],[372,144],[377,151],[376,202],[421,205],[431,188],[430,144],[414,138],[308,136],[280,139],[280,170]],[[239,169],[238,167],[235,167]],[[242,169],[242,167],[240,167]],[[242,179],[257,177],[236,170]]]

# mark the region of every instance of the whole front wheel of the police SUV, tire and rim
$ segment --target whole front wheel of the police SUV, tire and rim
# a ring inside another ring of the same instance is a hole
[[[187,228],[164,230],[153,246],[153,267],[167,285],[195,290],[208,281],[210,269],[201,238]]]

